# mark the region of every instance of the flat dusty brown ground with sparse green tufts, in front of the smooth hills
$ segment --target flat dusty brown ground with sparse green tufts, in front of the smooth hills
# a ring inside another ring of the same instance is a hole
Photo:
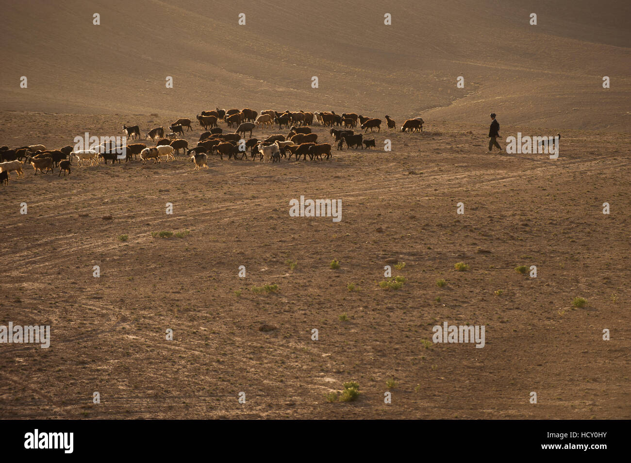
[[[58,148],[86,129],[163,124],[2,117],[15,121],[0,129],[11,146]],[[27,170],[0,189],[0,324],[50,324],[52,341],[0,346],[0,417],[631,418],[628,134],[564,131],[549,160],[487,155],[487,130],[432,122],[314,163],[212,158],[193,172],[180,156],[74,165],[61,179]],[[555,133],[500,133],[517,131]],[[342,221],[290,217],[300,195],[341,199]],[[392,271],[406,283],[384,291],[377,283],[392,258],[405,262]],[[537,278],[520,265],[536,265]],[[272,283],[278,293],[251,291]],[[572,308],[575,296],[587,306]],[[444,321],[485,325],[486,346],[426,348]],[[358,401],[327,403],[348,380],[360,384]]]

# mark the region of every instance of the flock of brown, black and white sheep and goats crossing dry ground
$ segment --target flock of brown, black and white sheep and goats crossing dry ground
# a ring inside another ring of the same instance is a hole
[[[365,139],[363,135],[368,132],[377,132],[381,129],[381,119],[363,117],[355,113],[343,113],[341,115],[335,112],[291,112],[286,110],[283,113],[266,110],[258,114],[249,108],[243,110],[230,109],[223,110],[216,108],[214,111],[203,111],[196,115],[199,125],[206,131],[199,137],[197,146],[189,149],[189,142],[185,139],[178,138],[179,135],[184,136],[184,131],[192,131],[191,119],[178,119],[170,124],[170,133],[165,137],[164,127],[156,127],[144,135],[145,139],[156,141],[156,146],[148,147],[144,143],[131,143],[125,146],[117,146],[115,142],[105,142],[97,146],[91,146],[85,150],[75,150],[73,146],[68,145],[60,149],[46,149],[42,144],[34,144],[30,146],[21,146],[16,149],[9,149],[8,146],[0,147],[0,184],[9,184],[9,173],[14,171],[17,178],[24,177],[22,167],[24,163],[32,165],[35,175],[37,171],[41,173],[54,172],[54,168],[59,168],[59,176],[61,173],[71,172],[71,164],[73,158],[76,159],[77,165],[82,167],[84,163],[90,162],[90,165],[98,165],[99,161],[126,162],[133,158],[140,159],[143,164],[146,161],[153,160],[153,163],[160,162],[162,157],[175,160],[174,153],[182,153],[190,156],[191,162],[195,164],[194,170],[206,167],[208,168],[208,156],[218,155],[223,160],[223,156],[228,159],[240,156],[243,159],[247,156],[247,149],[250,149],[252,160],[259,156],[259,161],[280,162],[281,157],[291,160],[294,156],[295,160],[299,160],[300,156],[303,160],[309,156],[310,160],[322,160],[332,158],[331,144],[317,143],[317,134],[311,131],[310,126],[319,124],[323,127],[331,127],[330,134],[337,143],[337,149],[346,148],[375,148],[375,139]],[[233,129],[234,132],[224,133],[219,124],[223,122],[227,129]],[[388,115],[386,115],[386,123],[389,129],[395,129],[396,123]],[[279,130],[289,129],[290,132],[285,136],[283,134],[274,134],[265,139],[252,138],[252,131],[255,128],[273,127],[278,124]],[[359,124],[363,133],[355,134],[355,129]],[[337,128],[336,128],[337,127]],[[408,119],[401,126],[401,131],[420,132],[423,131],[423,119],[416,117]],[[123,132],[127,139],[140,139],[141,132],[139,126],[123,125]],[[245,139],[245,134],[249,132],[249,139]]]

